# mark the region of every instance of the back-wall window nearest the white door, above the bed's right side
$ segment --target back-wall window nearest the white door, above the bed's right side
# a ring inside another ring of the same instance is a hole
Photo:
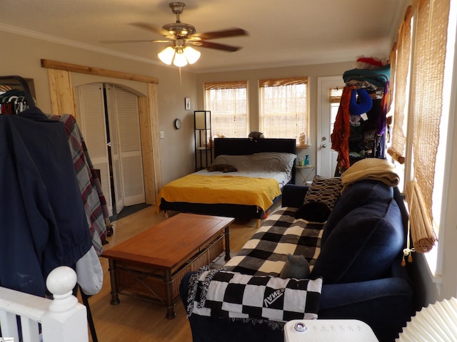
[[[261,80],[260,122],[266,138],[308,137],[308,78]]]

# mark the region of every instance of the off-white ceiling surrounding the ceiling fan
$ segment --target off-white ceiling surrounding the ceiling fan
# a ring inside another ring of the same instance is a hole
[[[248,36],[213,40],[242,46],[209,48],[189,71],[240,70],[386,59],[408,0],[184,0],[181,21],[197,32],[243,28]],[[161,64],[166,43],[107,43],[160,39],[132,23],[173,23],[169,0],[1,0],[0,31],[34,36]]]

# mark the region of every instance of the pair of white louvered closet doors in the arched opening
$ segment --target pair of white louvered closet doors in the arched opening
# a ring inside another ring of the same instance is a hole
[[[114,212],[113,191],[117,213],[126,205],[146,202],[138,97],[124,88],[104,86],[103,83],[76,87],[75,94],[81,131],[92,163],[101,171],[101,187],[109,215]],[[108,128],[105,110],[108,113]],[[111,148],[108,148],[108,142]]]

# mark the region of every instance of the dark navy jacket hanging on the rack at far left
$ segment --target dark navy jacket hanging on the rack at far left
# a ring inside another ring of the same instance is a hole
[[[37,296],[92,248],[64,123],[38,108],[0,115],[0,284]]]

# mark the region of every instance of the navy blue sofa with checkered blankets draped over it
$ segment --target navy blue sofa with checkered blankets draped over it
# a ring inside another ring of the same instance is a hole
[[[299,208],[308,187],[286,185],[282,206]],[[381,342],[394,341],[421,303],[411,266],[401,266],[406,209],[396,187],[356,182],[337,200],[323,228],[321,252],[310,279],[321,276],[318,318],[353,318],[368,323]],[[414,267],[414,266],[413,266]],[[181,281],[186,306],[191,273]],[[413,286],[414,285],[414,286]],[[194,342],[283,341],[281,329],[229,318],[189,316]]]

